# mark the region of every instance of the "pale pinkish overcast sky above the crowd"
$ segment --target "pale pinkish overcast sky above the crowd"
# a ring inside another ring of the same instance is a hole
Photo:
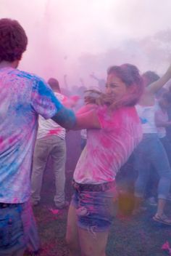
[[[20,68],[45,79],[74,72],[83,53],[170,28],[170,9],[170,0],[0,0],[0,17],[19,20],[28,34]]]

